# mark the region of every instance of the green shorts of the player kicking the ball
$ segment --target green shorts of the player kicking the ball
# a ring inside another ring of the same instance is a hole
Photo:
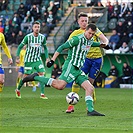
[[[64,80],[67,83],[75,81],[77,84],[81,85],[84,81],[88,80],[88,77],[81,69],[66,61],[63,65],[62,74],[59,79]]]

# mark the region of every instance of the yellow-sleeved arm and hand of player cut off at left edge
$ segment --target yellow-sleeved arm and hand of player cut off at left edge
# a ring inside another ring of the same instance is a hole
[[[9,51],[7,45],[6,45],[6,41],[5,41],[4,35],[2,36],[1,45],[2,45],[2,49],[4,50],[6,56],[8,57],[8,62],[9,62],[9,64],[12,64],[12,63],[13,63],[13,61],[12,61],[12,56],[11,56],[11,54],[10,54],[10,51]]]

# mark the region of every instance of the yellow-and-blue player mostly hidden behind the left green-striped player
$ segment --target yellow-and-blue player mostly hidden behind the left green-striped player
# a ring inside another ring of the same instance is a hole
[[[26,45],[23,47],[23,49],[20,52],[20,63],[17,64],[17,71],[18,71],[18,77],[17,77],[17,87],[19,85],[20,79],[23,78],[23,74],[24,74],[24,57],[25,57],[25,53],[26,53]],[[36,91],[36,83],[35,81],[32,81],[32,85],[33,85],[33,89],[32,91]]]

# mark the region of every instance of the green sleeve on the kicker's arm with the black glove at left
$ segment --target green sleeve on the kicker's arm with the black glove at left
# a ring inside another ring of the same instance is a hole
[[[78,45],[78,43],[79,43],[78,37],[74,36],[70,40],[67,40],[64,44],[59,46],[56,52],[61,53],[64,49],[69,49],[71,47],[74,47]]]

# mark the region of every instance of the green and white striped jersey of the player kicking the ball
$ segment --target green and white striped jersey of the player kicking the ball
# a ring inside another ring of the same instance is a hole
[[[84,34],[80,34],[72,37],[66,43],[61,45],[57,49],[57,52],[60,53],[63,49],[69,48],[67,60],[69,60],[69,62],[71,62],[74,66],[81,68],[91,45],[93,47],[98,47],[100,43],[93,42],[92,39],[88,40]]]

